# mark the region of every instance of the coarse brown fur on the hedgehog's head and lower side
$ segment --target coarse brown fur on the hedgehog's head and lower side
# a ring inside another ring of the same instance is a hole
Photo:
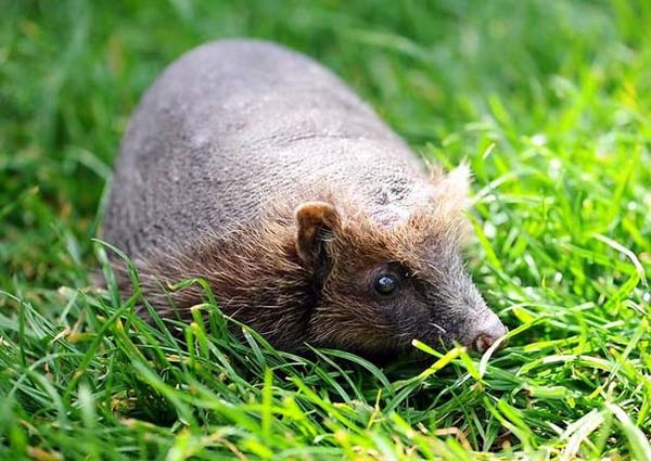
[[[405,223],[386,229],[365,216],[350,201],[332,192],[317,194],[333,205],[339,217],[322,234],[329,258],[327,273],[315,274],[297,251],[301,226],[295,210],[277,206],[260,222],[239,226],[221,236],[205,235],[190,252],[153,252],[136,260],[144,297],[163,317],[190,319],[190,308],[205,300],[199,284],[178,291],[179,281],[200,278],[215,293],[227,315],[254,328],[275,346],[296,350],[305,344],[337,347],[371,356],[406,349],[418,337],[427,311],[413,311],[409,299],[398,309],[379,309],[360,274],[387,264],[409,271],[423,282],[439,277],[431,253],[454,253],[463,235],[462,209],[447,191],[447,200],[414,213]],[[115,264],[120,291],[132,286],[124,264]],[[170,303],[171,300],[171,303]],[[176,310],[176,311],[175,311]],[[142,315],[144,309],[140,308]],[[369,321],[369,319],[373,319]],[[396,322],[398,328],[396,329]]]

